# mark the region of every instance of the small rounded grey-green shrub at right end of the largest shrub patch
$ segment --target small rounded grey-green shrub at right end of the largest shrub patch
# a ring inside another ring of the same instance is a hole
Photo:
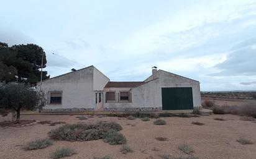
[[[126,137],[114,129],[104,132],[103,140],[111,145],[126,144]]]

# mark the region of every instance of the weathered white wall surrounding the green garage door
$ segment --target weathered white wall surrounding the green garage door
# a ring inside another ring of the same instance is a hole
[[[155,79],[150,77],[147,83],[131,89],[132,103],[107,104],[105,110],[150,111],[162,110],[162,87],[192,87],[193,105],[201,106],[199,82],[165,71],[157,71]]]

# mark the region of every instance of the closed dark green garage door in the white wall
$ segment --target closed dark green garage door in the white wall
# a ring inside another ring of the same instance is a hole
[[[162,110],[193,110],[192,87],[162,88]]]

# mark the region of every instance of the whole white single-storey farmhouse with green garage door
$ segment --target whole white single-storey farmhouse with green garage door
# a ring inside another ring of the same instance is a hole
[[[193,110],[201,106],[198,81],[157,69],[144,81],[111,82],[89,66],[43,80],[42,90],[47,95],[43,111]]]

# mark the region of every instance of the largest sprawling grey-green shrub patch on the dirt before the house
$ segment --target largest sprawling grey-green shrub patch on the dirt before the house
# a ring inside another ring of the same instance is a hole
[[[48,132],[48,135],[54,140],[86,141],[104,139],[104,137],[112,137],[112,139],[115,139],[116,142],[118,142],[118,137],[122,136],[119,135],[120,133],[118,132],[121,131],[121,129],[122,127],[116,122],[98,122],[96,124],[65,124],[64,126]],[[111,139],[106,140],[109,142],[109,144],[114,143],[114,141]]]

